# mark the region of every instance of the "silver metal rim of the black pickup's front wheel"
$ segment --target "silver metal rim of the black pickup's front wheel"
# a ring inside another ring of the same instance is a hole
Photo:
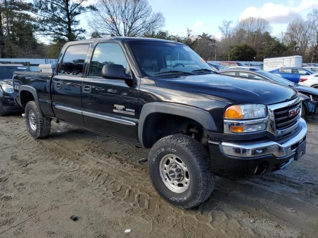
[[[188,167],[176,155],[163,156],[160,160],[159,171],[162,182],[172,192],[184,192],[190,185]]]

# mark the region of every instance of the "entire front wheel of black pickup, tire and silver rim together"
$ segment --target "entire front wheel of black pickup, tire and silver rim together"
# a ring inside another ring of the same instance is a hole
[[[175,134],[157,141],[149,153],[148,166],[158,193],[175,206],[196,207],[214,189],[209,153],[190,136]]]

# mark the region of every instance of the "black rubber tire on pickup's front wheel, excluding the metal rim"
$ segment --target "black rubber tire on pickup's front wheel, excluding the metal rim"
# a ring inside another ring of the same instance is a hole
[[[160,160],[169,154],[182,158],[188,168],[191,179],[184,192],[173,192],[161,179]],[[200,142],[190,136],[175,134],[157,141],[149,153],[148,166],[156,190],[174,206],[194,208],[208,199],[214,189],[210,155]]]

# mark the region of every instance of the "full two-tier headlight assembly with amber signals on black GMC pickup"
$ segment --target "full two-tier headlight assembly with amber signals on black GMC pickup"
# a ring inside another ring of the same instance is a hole
[[[266,116],[266,106],[262,104],[230,106],[224,112],[224,132],[233,134],[265,131],[268,122]]]

